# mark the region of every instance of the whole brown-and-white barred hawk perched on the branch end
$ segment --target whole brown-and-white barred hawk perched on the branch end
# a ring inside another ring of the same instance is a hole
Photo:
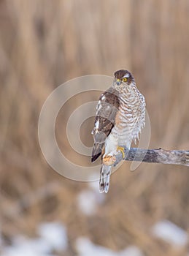
[[[94,145],[91,162],[101,156],[102,165],[99,191],[108,192],[109,179],[115,154],[136,143],[145,125],[145,99],[136,87],[134,77],[128,70],[120,69],[114,74],[112,86],[104,91],[96,105],[93,135]]]

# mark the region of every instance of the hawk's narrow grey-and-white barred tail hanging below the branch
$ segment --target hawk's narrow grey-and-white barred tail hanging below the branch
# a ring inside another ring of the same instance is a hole
[[[111,175],[112,166],[111,165],[101,165],[101,174],[99,181],[100,193],[107,193],[109,189],[109,180]]]

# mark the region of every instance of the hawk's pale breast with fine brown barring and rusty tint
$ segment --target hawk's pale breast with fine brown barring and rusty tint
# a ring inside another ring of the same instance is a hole
[[[119,91],[120,106],[112,130],[119,146],[131,147],[139,138],[145,124],[145,100],[136,86],[126,86]]]

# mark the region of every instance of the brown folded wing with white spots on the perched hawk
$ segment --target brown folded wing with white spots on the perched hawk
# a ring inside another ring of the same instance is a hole
[[[94,162],[104,148],[104,142],[115,126],[115,116],[119,108],[118,92],[110,87],[101,94],[96,106],[95,124],[92,131],[94,146],[91,162]]]

